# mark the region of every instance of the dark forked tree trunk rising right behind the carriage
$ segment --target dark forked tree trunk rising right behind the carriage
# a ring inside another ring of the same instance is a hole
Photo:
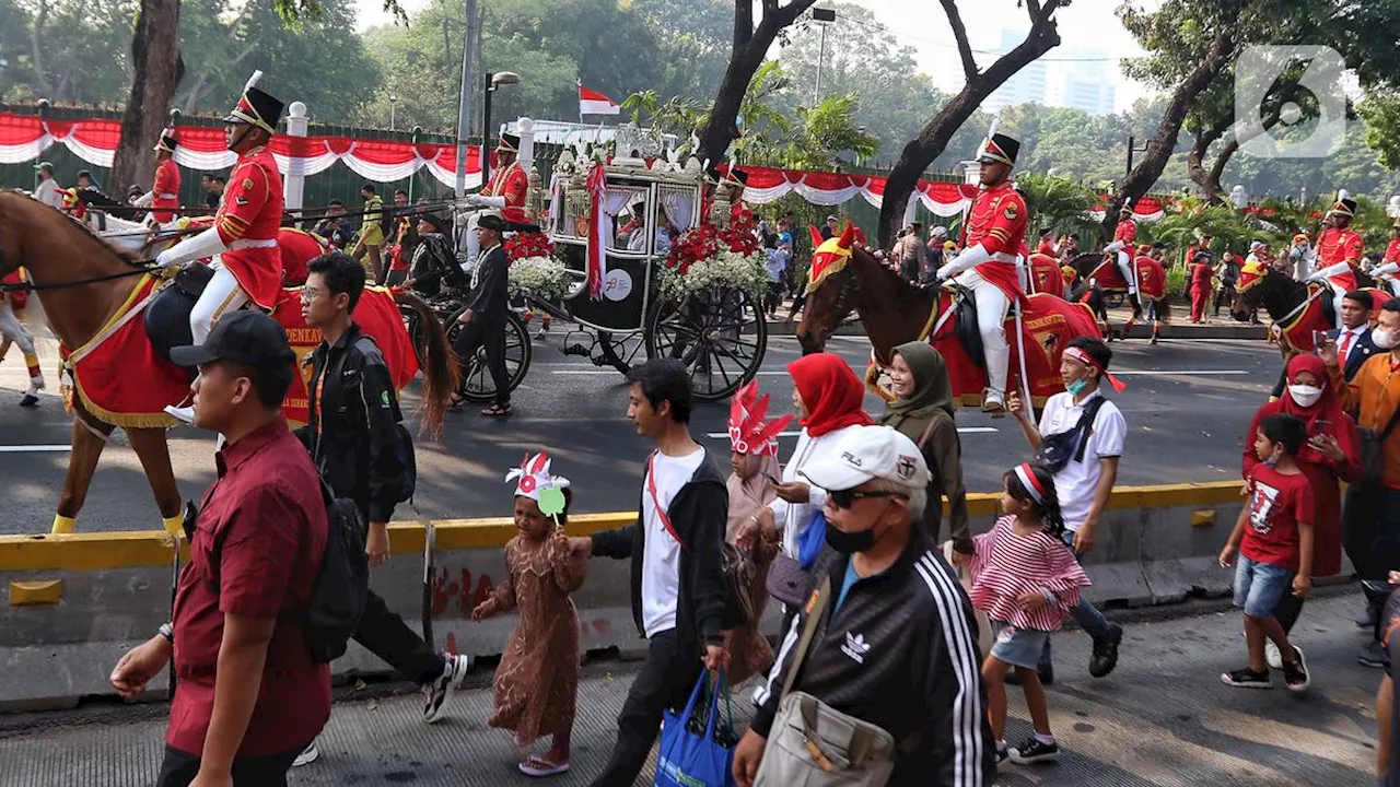
[[[769,48],[778,34],[792,27],[798,17],[816,0],[760,0],[755,24],[753,0],[734,0],[734,38],[729,66],[720,81],[704,129],[700,132],[700,158],[711,165],[724,160],[729,143],[739,139],[739,108],[749,90],[749,81],[767,59]]]

